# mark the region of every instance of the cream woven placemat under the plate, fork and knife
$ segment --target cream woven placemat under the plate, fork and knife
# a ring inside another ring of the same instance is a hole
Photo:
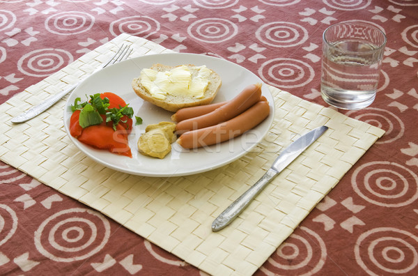
[[[0,106],[0,160],[99,210],[152,243],[212,275],[251,275],[330,192],[383,130],[271,88],[272,129],[254,151],[203,174],[150,178],[93,162],[63,128],[61,100],[26,123],[12,116],[93,71],[122,43],[134,55],[170,52],[122,34]],[[277,152],[320,125],[330,129],[286,168],[229,227],[212,221],[270,167]]]

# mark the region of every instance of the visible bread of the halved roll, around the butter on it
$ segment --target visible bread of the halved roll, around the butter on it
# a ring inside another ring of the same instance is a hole
[[[199,70],[196,69],[196,66],[191,64],[186,66],[192,73],[192,77],[198,74]],[[175,67],[178,66],[165,66],[162,64],[154,64],[150,69],[159,72],[166,72],[172,70]],[[210,70],[210,75],[208,79],[208,87],[206,88],[206,91],[204,91],[203,97],[200,98],[197,98],[194,95],[167,94],[165,99],[157,99],[153,97],[151,93],[141,84],[141,77],[137,77],[132,80],[132,88],[134,89],[135,93],[137,93],[137,95],[139,95],[139,97],[141,97],[143,100],[151,102],[152,104],[157,105],[158,107],[162,107],[163,109],[166,109],[170,112],[177,112],[178,109],[181,109],[183,107],[208,105],[212,102],[217,92],[219,91],[219,88],[222,85],[222,80],[221,77],[219,77],[219,75],[213,70]]]

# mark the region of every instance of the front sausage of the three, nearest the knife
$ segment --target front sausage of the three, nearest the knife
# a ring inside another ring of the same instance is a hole
[[[268,114],[270,114],[268,102],[257,102],[229,121],[183,133],[177,139],[177,143],[183,148],[199,148],[221,143],[256,127],[268,117]]]

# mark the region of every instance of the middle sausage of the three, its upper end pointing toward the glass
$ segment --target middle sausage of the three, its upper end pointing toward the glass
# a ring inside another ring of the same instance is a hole
[[[217,125],[238,116],[245,110],[254,105],[261,97],[261,84],[251,84],[243,89],[235,98],[226,102],[225,105],[218,107],[214,111],[180,121],[176,125],[176,134],[182,134],[189,130],[206,128]]]

